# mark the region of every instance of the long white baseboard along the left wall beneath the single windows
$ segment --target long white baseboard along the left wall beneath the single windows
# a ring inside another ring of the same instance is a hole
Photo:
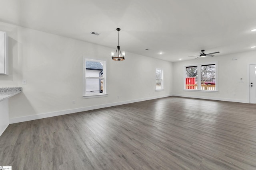
[[[66,115],[66,114],[70,114],[70,113],[77,113],[77,112],[81,112],[81,111],[101,109],[101,108],[104,108],[104,107],[111,107],[111,106],[118,106],[118,105],[122,105],[122,104],[130,104],[130,103],[135,103],[135,102],[142,102],[142,101],[145,101],[145,100],[152,100],[152,99],[157,99],[157,98],[165,98],[165,97],[169,97],[169,96],[173,96],[173,95],[172,94],[168,94],[168,95],[163,95],[163,96],[153,96],[153,97],[150,97],[150,98],[142,98],[142,99],[128,100],[128,101],[123,101],[123,102],[116,102],[116,103],[103,104],[103,105],[97,105],[97,106],[89,106],[89,107],[81,107],[81,108],[76,108],[76,109],[54,111],[54,112],[42,113],[42,114],[38,114],[38,115],[14,117],[14,118],[10,118],[10,124],[24,122],[24,121],[31,121],[31,120],[36,120],[36,119],[43,119],[43,118],[59,116],[59,115]]]

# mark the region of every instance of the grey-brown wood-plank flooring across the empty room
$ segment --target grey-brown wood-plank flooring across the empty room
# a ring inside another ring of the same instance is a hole
[[[10,124],[13,170],[256,170],[256,105],[168,97]]]

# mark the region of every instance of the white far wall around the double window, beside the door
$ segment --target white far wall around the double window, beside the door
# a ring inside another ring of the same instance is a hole
[[[184,91],[184,66],[209,62],[218,62],[218,93]],[[249,64],[256,64],[256,51],[173,63],[174,95],[249,103]]]

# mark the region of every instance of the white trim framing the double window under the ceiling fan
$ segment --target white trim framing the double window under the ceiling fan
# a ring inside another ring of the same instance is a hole
[[[208,65],[208,64],[215,64],[215,90],[198,90],[201,89],[201,83],[197,84],[197,90],[196,89],[186,89],[186,67],[189,66],[197,66],[197,72],[200,72],[200,76],[197,77],[197,82],[201,82],[201,66],[202,65]],[[207,63],[202,63],[202,64],[190,64],[184,66],[184,89],[183,91],[190,91],[190,92],[210,92],[210,93],[218,93],[218,62],[207,62]]]

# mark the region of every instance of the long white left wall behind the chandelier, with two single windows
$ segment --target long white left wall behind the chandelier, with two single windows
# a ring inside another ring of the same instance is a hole
[[[0,76],[0,86],[21,86],[23,91],[9,99],[10,123],[172,93],[170,62],[129,52],[125,61],[112,61],[111,48],[24,27],[15,27],[13,35],[10,74]],[[82,98],[83,57],[106,61],[107,97]],[[164,91],[155,91],[155,67],[164,69]]]

